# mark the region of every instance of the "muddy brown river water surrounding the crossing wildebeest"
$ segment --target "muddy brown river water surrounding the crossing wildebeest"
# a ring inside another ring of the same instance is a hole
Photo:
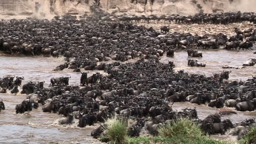
[[[161,57],[161,62],[173,61],[176,70],[184,69],[189,73],[201,73],[211,76],[212,73],[223,71],[223,65],[234,67],[241,66],[249,58],[255,58],[253,51],[226,51],[207,50],[202,51],[202,58],[194,58],[199,62],[206,63],[205,68],[187,67],[187,52],[175,52],[173,58]],[[63,58],[51,57],[24,57],[8,56],[0,54],[0,77],[5,75],[24,76],[28,81],[43,81],[48,86],[51,77],[70,75],[69,85],[79,85],[80,73],[73,73],[71,69],[63,71],[52,71],[57,65],[63,63]],[[256,75],[256,67],[246,67],[243,69],[231,69],[230,80],[247,80]],[[89,73],[92,75],[94,71]],[[57,124],[60,115],[56,113],[42,112],[42,107],[24,114],[15,113],[15,105],[21,103],[26,98],[24,94],[13,95],[10,93],[0,94],[6,110],[0,112],[0,143],[100,143],[92,139],[89,135],[94,127],[77,127],[77,120],[72,125]],[[218,112],[218,109],[205,105],[195,105],[189,103],[175,103],[173,109],[181,110],[186,107],[196,107],[199,118]],[[232,122],[240,122],[249,117],[256,117],[256,112],[237,112],[223,118],[229,118]],[[235,140],[234,136],[223,135],[214,136],[218,139]]]

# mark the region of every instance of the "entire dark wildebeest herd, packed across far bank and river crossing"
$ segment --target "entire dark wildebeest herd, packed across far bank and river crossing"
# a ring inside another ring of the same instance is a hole
[[[254,14],[245,13],[241,17],[246,15]],[[241,17],[235,19],[237,21],[229,18],[228,22],[241,22]],[[60,124],[71,124],[74,119],[78,119],[78,127],[103,123],[113,115],[121,115],[135,121],[129,128],[130,136],[139,136],[142,129],[158,135],[160,125],[181,117],[194,119],[209,135],[225,134],[229,128],[235,128],[234,135],[241,138],[255,125],[254,119],[232,123],[215,114],[201,120],[195,109],[172,109],[173,103],[189,101],[217,108],[226,106],[235,107],[237,111],[254,111],[255,76],[247,81],[225,81],[229,79],[231,71],[207,77],[185,73],[183,70],[174,71],[173,62],[159,62],[165,53],[173,57],[177,49],[187,50],[189,57],[203,57],[193,48],[219,49],[223,46],[228,50],[248,50],[256,40],[255,29],[240,31],[235,28],[236,34],[228,38],[222,33],[202,36],[160,33],[153,28],[132,23],[95,20],[98,20],[97,16],[78,20],[66,15],[51,21],[29,18],[0,22],[0,51],[28,56],[63,56],[66,62],[55,68],[55,71],[69,68],[81,73],[80,80],[77,80],[80,86],[69,85],[70,77],[67,76],[47,80],[50,86],[44,86],[45,81],[25,83],[21,93],[26,94],[26,99],[16,105],[16,113],[38,109],[42,105],[43,112],[65,116]],[[133,58],[139,60],[121,63]],[[115,62],[97,63],[110,60]],[[245,66],[255,63],[255,59],[250,59]],[[206,66],[194,59],[188,59],[188,65]],[[106,74],[97,72],[88,76],[89,71],[83,72],[83,69],[104,70]],[[18,93],[24,78],[4,76],[0,79],[1,93]],[[0,100],[0,110],[4,109],[3,101]],[[102,125],[91,135],[98,137],[101,133]]]

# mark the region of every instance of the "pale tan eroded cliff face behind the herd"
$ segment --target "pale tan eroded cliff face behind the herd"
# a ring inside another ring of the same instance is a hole
[[[1,15],[52,17],[66,13],[90,13],[95,0],[1,0]],[[195,14],[222,11],[255,11],[254,0],[97,0],[108,13]]]

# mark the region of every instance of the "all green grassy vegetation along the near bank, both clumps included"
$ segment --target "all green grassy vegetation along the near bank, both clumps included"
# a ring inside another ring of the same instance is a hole
[[[177,122],[162,125],[159,136],[129,137],[126,118],[114,117],[106,122],[106,130],[101,141],[114,144],[228,144],[230,142],[211,139],[203,135],[201,129],[190,119],[179,119]]]

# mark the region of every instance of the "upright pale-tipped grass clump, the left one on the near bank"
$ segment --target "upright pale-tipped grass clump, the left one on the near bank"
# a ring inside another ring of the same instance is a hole
[[[101,136],[101,141],[109,141],[110,143],[125,143],[128,131],[128,122],[124,117],[114,116],[106,121],[106,126],[103,127],[104,134]]]

